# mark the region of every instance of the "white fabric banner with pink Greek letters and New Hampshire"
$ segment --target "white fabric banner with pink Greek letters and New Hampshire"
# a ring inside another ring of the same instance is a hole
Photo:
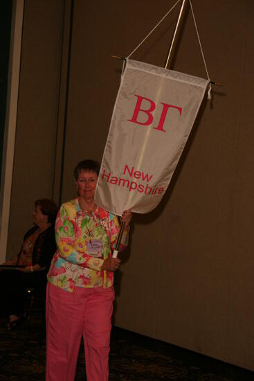
[[[165,194],[208,80],[127,60],[95,202],[122,215],[152,211]]]

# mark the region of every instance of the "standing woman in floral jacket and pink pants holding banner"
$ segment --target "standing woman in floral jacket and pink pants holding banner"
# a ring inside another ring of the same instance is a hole
[[[78,197],[57,215],[57,251],[48,272],[46,302],[46,381],[74,380],[83,336],[88,381],[108,380],[113,274],[120,266],[111,249],[118,236],[116,215],[96,206],[94,193],[100,164],[78,163],[74,170]],[[127,247],[131,211],[120,251]]]

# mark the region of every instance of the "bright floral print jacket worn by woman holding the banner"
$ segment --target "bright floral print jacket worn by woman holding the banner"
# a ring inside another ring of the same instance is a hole
[[[111,256],[118,231],[118,217],[100,207],[90,217],[80,209],[78,198],[62,204],[55,222],[57,251],[48,282],[69,292],[75,286],[111,287],[113,272],[101,267]],[[123,233],[120,251],[127,244],[128,233]]]

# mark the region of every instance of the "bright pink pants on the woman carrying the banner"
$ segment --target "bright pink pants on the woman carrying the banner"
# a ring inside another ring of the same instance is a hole
[[[46,298],[46,381],[73,381],[83,335],[87,381],[109,378],[109,342],[114,289],[51,283]]]

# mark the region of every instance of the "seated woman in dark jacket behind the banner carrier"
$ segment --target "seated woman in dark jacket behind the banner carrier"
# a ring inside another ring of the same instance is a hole
[[[32,229],[24,236],[23,244],[12,260],[1,267],[0,287],[3,294],[3,309],[8,315],[7,329],[15,328],[24,319],[24,292],[28,287],[46,287],[46,273],[55,254],[55,218],[57,205],[53,200],[35,201]],[[16,266],[21,266],[15,269]]]

